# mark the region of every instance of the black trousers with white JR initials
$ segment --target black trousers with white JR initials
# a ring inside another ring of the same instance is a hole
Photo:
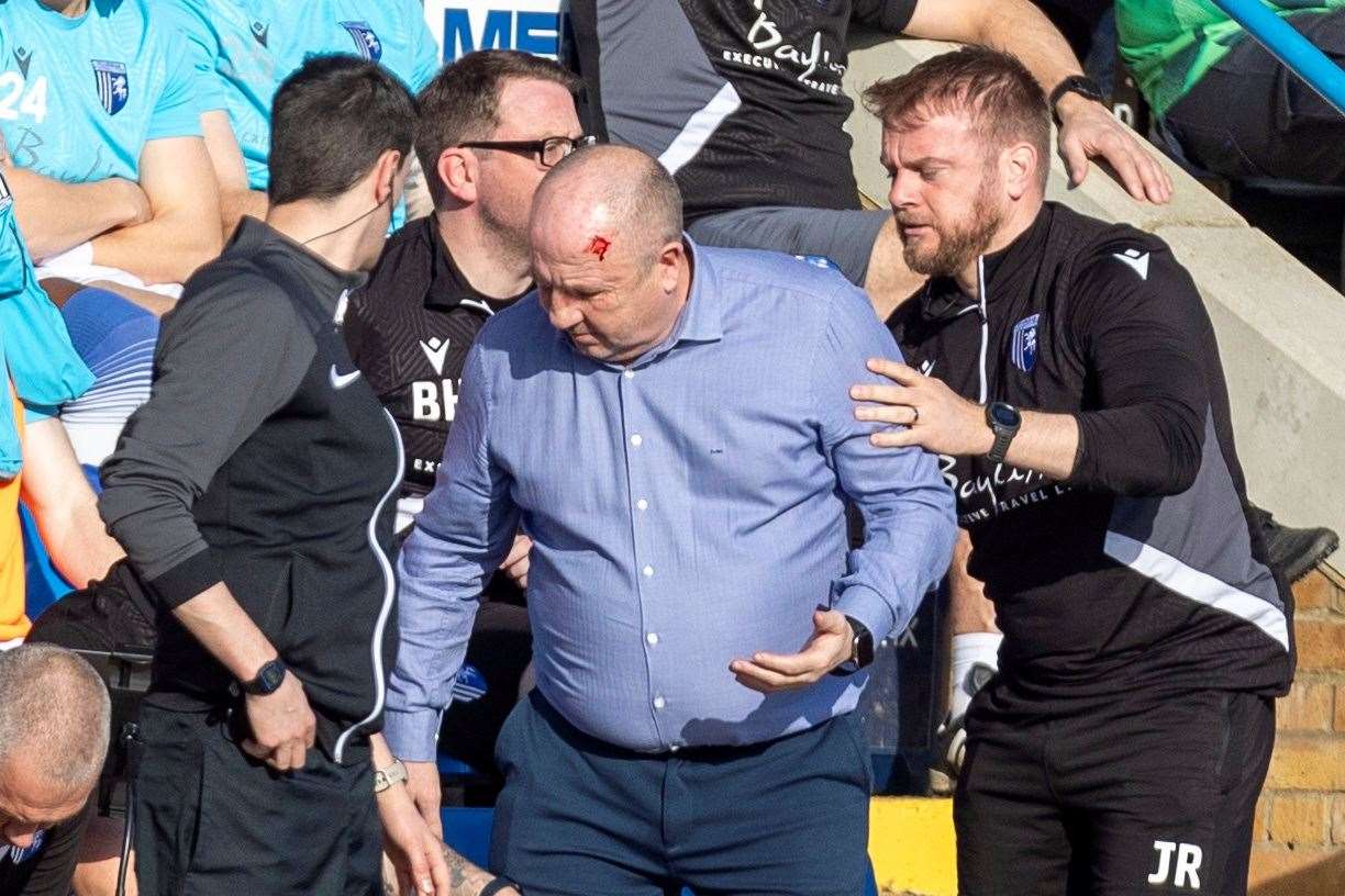
[[[959,892],[1241,895],[1274,742],[1258,695],[1044,707],[994,680],[967,713]]]

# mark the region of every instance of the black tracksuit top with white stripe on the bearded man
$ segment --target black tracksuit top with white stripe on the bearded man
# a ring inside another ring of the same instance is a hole
[[[936,278],[888,324],[907,363],[959,395],[1079,422],[1061,482],[940,458],[1005,633],[1002,672],[1044,699],[1284,693],[1291,598],[1247,517],[1190,275],[1158,238],[1053,203],[981,271],[979,300]]]

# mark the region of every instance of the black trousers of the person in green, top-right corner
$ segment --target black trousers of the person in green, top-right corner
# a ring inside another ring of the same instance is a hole
[[[1287,21],[1345,63],[1345,9]],[[1345,116],[1251,38],[1205,73],[1163,124],[1192,163],[1216,175],[1345,187]]]

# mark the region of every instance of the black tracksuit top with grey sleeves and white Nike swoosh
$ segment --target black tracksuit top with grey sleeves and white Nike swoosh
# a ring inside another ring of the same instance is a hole
[[[169,613],[222,580],[339,763],[367,755],[397,649],[401,441],[334,322],[362,282],[245,219],[164,317],[100,502],[160,607],[149,699],[230,700],[227,670]]]

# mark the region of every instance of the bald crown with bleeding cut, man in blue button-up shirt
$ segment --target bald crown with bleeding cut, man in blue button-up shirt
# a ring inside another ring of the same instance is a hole
[[[590,253],[643,267],[681,238],[677,183],[656,159],[629,146],[588,146],[566,156],[533,200],[533,246],[550,255]]]

